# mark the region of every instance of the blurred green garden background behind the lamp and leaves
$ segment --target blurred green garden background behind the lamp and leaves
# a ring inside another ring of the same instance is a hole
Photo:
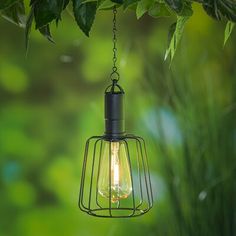
[[[103,133],[112,14],[86,38],[67,13],[56,44],[0,20],[0,236],[236,235],[236,35],[200,7],[170,68],[174,19],[118,15],[127,130],[146,139],[154,208],[97,219],[77,207],[84,144]]]

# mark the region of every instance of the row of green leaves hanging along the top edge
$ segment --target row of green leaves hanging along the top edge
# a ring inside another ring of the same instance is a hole
[[[235,0],[2,0],[0,2],[0,14],[7,20],[25,28],[26,47],[28,46],[29,34],[32,23],[49,41],[53,42],[50,33],[50,24],[57,25],[62,20],[62,12],[72,9],[73,16],[83,33],[89,36],[96,12],[98,10],[111,10],[115,5],[136,11],[137,19],[144,14],[151,17],[176,16],[176,22],[169,29],[169,46],[166,56],[172,59],[187,20],[192,16],[193,2],[203,6],[206,14],[220,21],[228,20],[225,42],[232,32],[236,22]],[[25,8],[30,7],[26,14]],[[230,26],[230,28],[229,28]]]

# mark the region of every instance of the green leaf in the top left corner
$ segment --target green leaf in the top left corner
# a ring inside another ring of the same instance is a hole
[[[18,1],[9,8],[3,10],[1,15],[6,20],[20,27],[25,27],[25,6],[23,0]]]

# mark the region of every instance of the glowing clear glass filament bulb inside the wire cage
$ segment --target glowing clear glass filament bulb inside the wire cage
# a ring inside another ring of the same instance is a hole
[[[130,166],[123,142],[104,142],[98,177],[98,192],[112,203],[132,192]],[[111,196],[110,196],[111,195]]]

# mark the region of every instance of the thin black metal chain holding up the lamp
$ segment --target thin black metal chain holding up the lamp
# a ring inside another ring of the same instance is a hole
[[[118,69],[116,66],[117,63],[117,36],[116,36],[116,32],[117,32],[117,28],[116,28],[116,15],[117,15],[117,10],[116,10],[116,6],[113,7],[113,67],[112,67],[112,73],[111,73],[111,80],[113,83],[117,83],[118,80],[120,79],[120,74],[118,73]]]

